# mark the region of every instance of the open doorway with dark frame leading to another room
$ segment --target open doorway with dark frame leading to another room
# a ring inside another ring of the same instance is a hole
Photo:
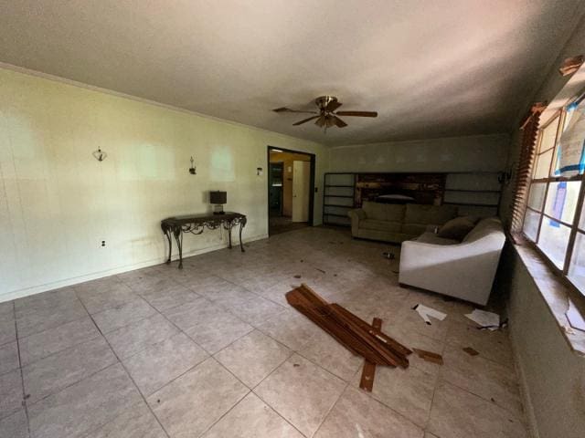
[[[268,146],[268,234],[313,225],[312,153]]]

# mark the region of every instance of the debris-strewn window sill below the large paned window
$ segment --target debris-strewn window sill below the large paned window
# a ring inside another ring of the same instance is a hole
[[[585,331],[572,328],[566,315],[569,308],[569,290],[534,248],[529,245],[513,246],[547,303],[550,313],[557,320],[558,328],[569,343],[569,348],[575,354],[585,358]]]

